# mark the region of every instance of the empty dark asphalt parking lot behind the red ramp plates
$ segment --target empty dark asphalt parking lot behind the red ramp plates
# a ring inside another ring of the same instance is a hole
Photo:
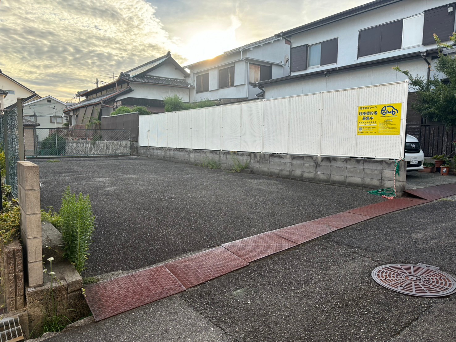
[[[367,192],[148,158],[34,160],[41,208],[90,195],[96,217],[86,275],[128,271],[381,201]]]

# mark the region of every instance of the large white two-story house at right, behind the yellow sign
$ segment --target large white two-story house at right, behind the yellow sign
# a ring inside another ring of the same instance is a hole
[[[393,69],[396,66],[414,76],[433,78],[437,58],[433,34],[448,41],[455,31],[455,12],[456,4],[448,0],[377,0],[280,32],[276,37],[291,43],[290,74],[260,81],[262,96],[279,98],[407,79]],[[420,116],[410,111],[407,117],[409,132],[419,135]]]

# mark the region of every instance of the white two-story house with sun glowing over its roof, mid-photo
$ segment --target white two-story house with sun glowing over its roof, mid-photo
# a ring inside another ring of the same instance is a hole
[[[269,37],[185,68],[190,71],[190,83],[194,86],[191,102],[244,101],[256,98],[257,82],[289,74],[290,42],[282,37]]]

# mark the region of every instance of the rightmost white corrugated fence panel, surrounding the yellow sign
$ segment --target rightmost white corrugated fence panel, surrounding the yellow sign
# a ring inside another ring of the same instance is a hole
[[[405,129],[408,87],[405,83],[384,84],[358,89],[358,106],[401,103],[401,121]],[[404,102],[405,101],[405,102]],[[404,129],[401,130],[404,133]],[[362,157],[401,158],[404,156],[404,135],[358,135],[356,154]]]

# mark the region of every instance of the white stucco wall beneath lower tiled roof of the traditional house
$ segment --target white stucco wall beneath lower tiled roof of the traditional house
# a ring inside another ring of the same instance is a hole
[[[178,88],[164,85],[147,84],[147,83],[131,83],[133,92],[125,93],[118,96],[116,99],[122,98],[151,98],[161,100],[165,96],[179,95],[184,102],[189,102],[189,89]]]

